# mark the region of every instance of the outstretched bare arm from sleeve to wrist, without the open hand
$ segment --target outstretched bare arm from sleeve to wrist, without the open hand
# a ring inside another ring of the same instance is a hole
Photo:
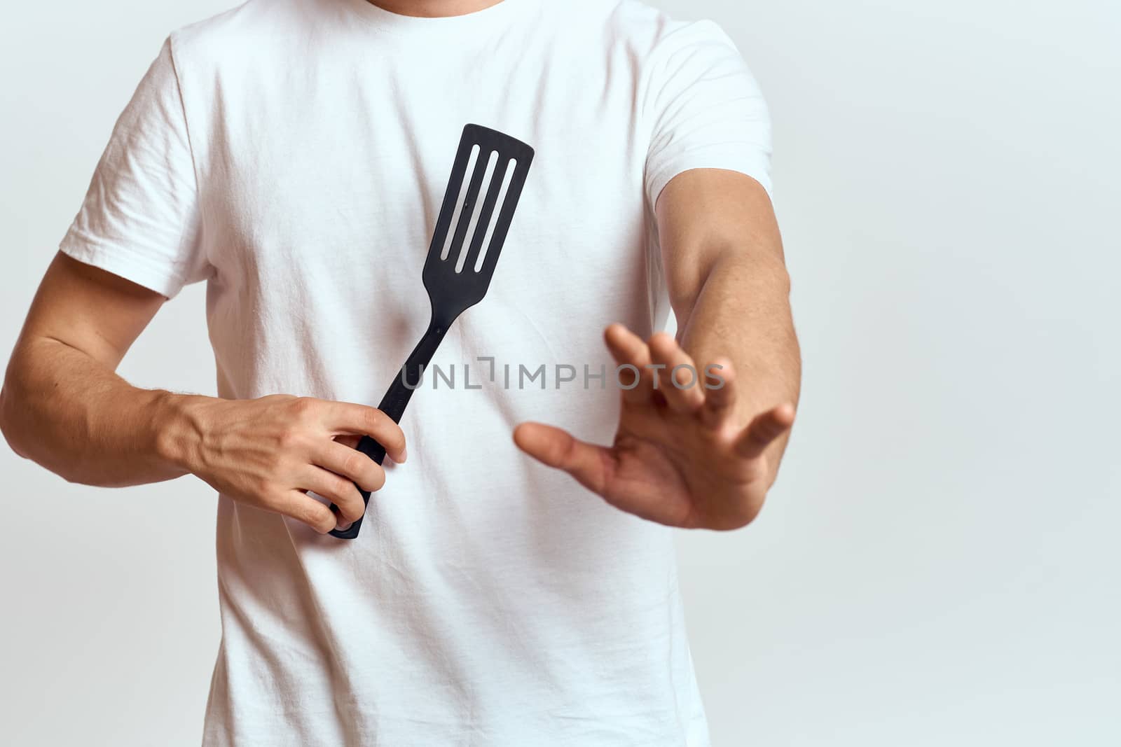
[[[782,240],[767,192],[735,171],[686,171],[666,186],[657,217],[682,347],[702,365],[731,360],[741,427],[779,405],[790,405],[785,414],[793,418],[802,357]],[[781,422],[759,423],[765,431],[771,426]],[[767,447],[770,482],[788,438],[782,428]]]

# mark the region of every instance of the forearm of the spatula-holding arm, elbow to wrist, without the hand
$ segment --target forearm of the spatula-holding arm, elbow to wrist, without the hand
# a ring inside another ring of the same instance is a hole
[[[0,428],[17,454],[70,482],[157,483],[186,471],[170,441],[187,399],[137,389],[86,353],[39,338],[12,357]]]

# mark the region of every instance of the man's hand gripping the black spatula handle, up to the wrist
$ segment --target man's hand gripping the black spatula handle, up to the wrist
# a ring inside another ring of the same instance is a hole
[[[304,522],[325,534],[365,512],[358,491],[379,491],[381,465],[354,449],[362,436],[405,461],[405,433],[363,404],[275,394],[258,400],[172,395],[173,418],[160,450],[220,493]],[[313,491],[339,507],[340,516]]]

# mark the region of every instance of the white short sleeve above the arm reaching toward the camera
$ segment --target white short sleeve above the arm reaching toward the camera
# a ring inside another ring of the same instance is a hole
[[[648,65],[650,207],[670,179],[696,168],[741,171],[769,194],[770,114],[728,35],[711,21],[678,26],[658,41]]]

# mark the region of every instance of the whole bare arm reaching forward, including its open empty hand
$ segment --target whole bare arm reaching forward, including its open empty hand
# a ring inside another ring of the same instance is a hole
[[[621,395],[614,443],[540,423],[519,426],[515,440],[623,511],[671,526],[739,529],[775,482],[799,391],[778,226],[757,181],[715,169],[673,179],[657,217],[678,339],[608,328],[615,361],[645,372]],[[712,364],[723,385],[684,385],[688,367],[702,379]],[[682,386],[668,379],[675,370]]]

